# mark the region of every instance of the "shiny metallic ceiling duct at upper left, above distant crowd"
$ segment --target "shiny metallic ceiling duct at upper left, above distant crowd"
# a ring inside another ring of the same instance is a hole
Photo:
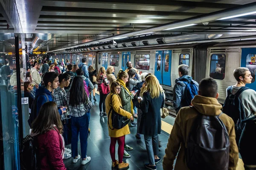
[[[34,34],[30,51],[37,51],[40,46],[44,46],[53,36],[54,34]]]

